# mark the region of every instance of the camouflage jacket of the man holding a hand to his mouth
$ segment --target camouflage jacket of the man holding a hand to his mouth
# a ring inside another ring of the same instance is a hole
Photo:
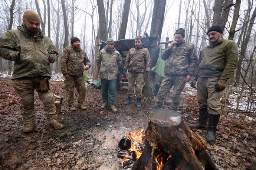
[[[192,43],[181,42],[176,44],[173,49],[167,48],[161,55],[166,60],[165,75],[193,75],[197,55],[196,48]]]

